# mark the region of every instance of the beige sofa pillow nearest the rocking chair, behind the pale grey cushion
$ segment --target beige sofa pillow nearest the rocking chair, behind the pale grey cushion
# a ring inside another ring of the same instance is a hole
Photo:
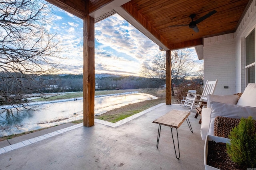
[[[220,103],[226,103],[226,104],[236,104],[238,101],[239,96],[238,95],[224,95],[224,96],[218,96],[218,95],[212,95],[209,94],[207,98],[207,108],[211,108],[210,103],[211,102],[220,102]]]

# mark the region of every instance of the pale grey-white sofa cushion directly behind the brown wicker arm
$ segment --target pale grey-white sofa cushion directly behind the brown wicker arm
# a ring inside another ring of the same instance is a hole
[[[209,135],[214,135],[214,119],[216,116],[230,117],[241,119],[242,117],[256,120],[256,107],[238,106],[234,104],[225,104],[219,102],[211,102],[212,112],[210,118]]]

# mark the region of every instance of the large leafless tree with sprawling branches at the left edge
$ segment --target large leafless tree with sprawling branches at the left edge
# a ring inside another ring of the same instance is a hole
[[[0,2],[0,104],[44,97],[40,89],[50,81],[40,75],[60,70],[59,41],[46,29],[51,13],[43,0]]]

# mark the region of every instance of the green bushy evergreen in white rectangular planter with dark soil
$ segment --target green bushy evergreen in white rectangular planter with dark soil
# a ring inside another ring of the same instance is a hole
[[[216,164],[220,169],[254,168],[256,166],[255,125],[256,123],[252,117],[248,117],[248,119],[242,118],[238,126],[230,131],[229,139],[208,135],[204,145],[205,169],[218,170],[217,166],[210,166],[212,164],[211,161],[215,159],[212,159],[214,152],[218,152],[216,157],[219,157],[219,160],[217,160]],[[211,149],[210,147],[212,146],[216,148]]]

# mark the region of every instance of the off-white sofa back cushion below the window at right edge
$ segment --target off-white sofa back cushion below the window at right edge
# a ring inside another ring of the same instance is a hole
[[[240,106],[256,107],[256,84],[249,83],[237,102]]]

